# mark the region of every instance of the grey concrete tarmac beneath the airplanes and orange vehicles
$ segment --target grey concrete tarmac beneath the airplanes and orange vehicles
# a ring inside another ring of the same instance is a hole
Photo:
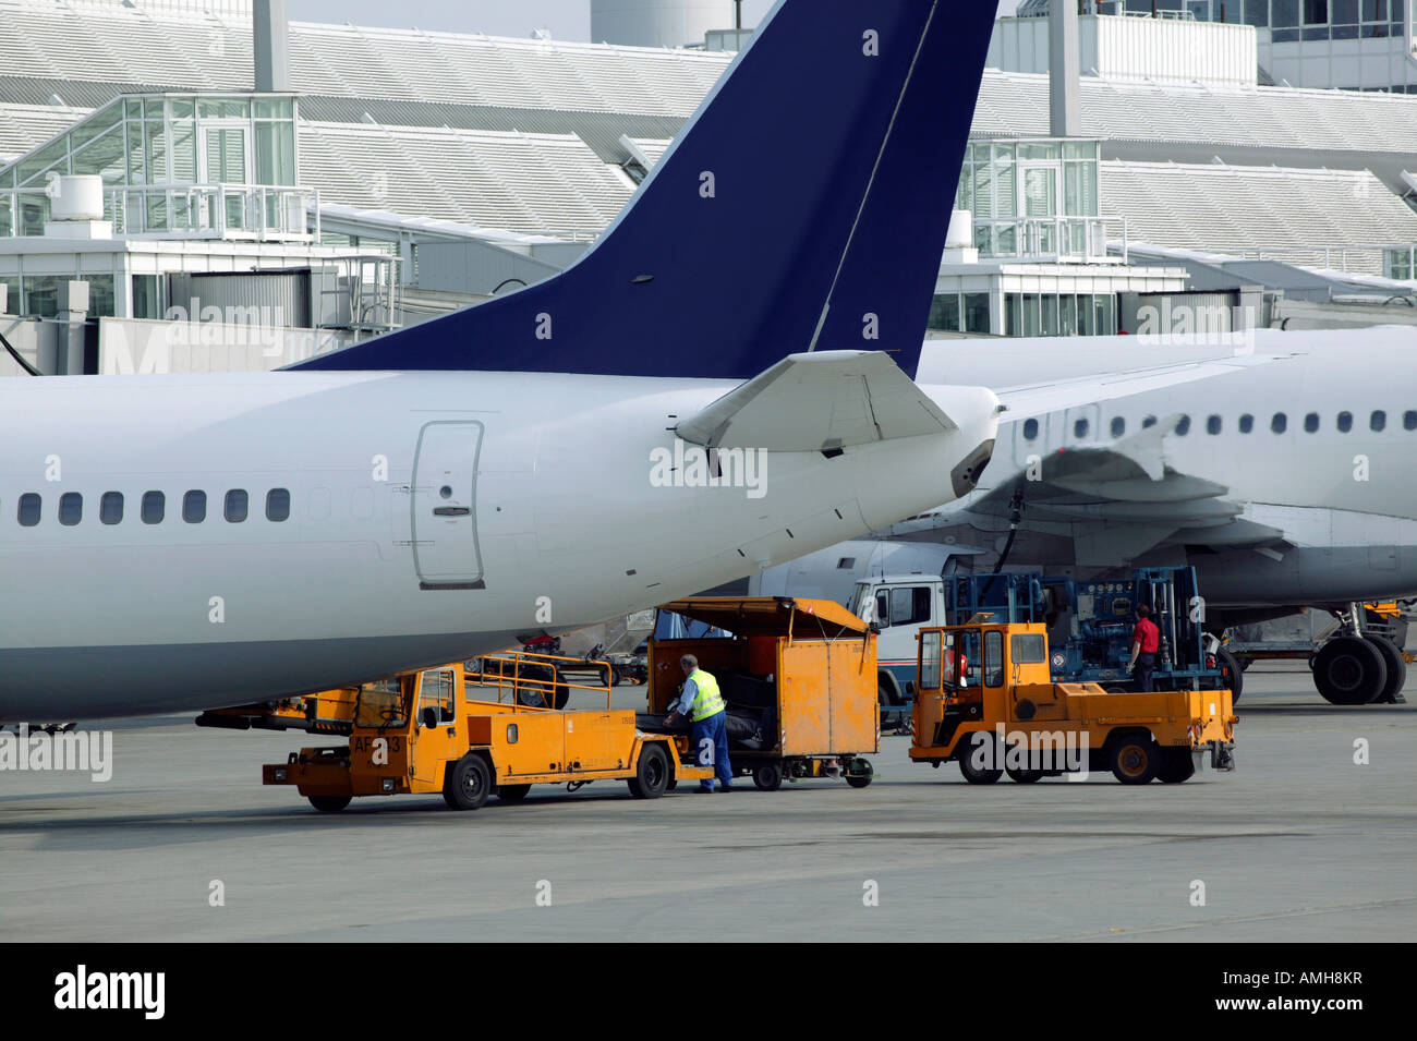
[[[862,790],[324,814],[261,763],[329,738],[94,724],[111,780],[0,772],[0,940],[1410,940],[1417,681],[1414,704],[1338,708],[1263,669],[1238,769],[1179,786],[971,786],[891,735]]]

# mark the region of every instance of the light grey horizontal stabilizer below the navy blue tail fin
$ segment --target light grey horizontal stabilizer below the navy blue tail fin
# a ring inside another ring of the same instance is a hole
[[[883,351],[789,354],[674,431],[704,448],[816,452],[956,429]]]

